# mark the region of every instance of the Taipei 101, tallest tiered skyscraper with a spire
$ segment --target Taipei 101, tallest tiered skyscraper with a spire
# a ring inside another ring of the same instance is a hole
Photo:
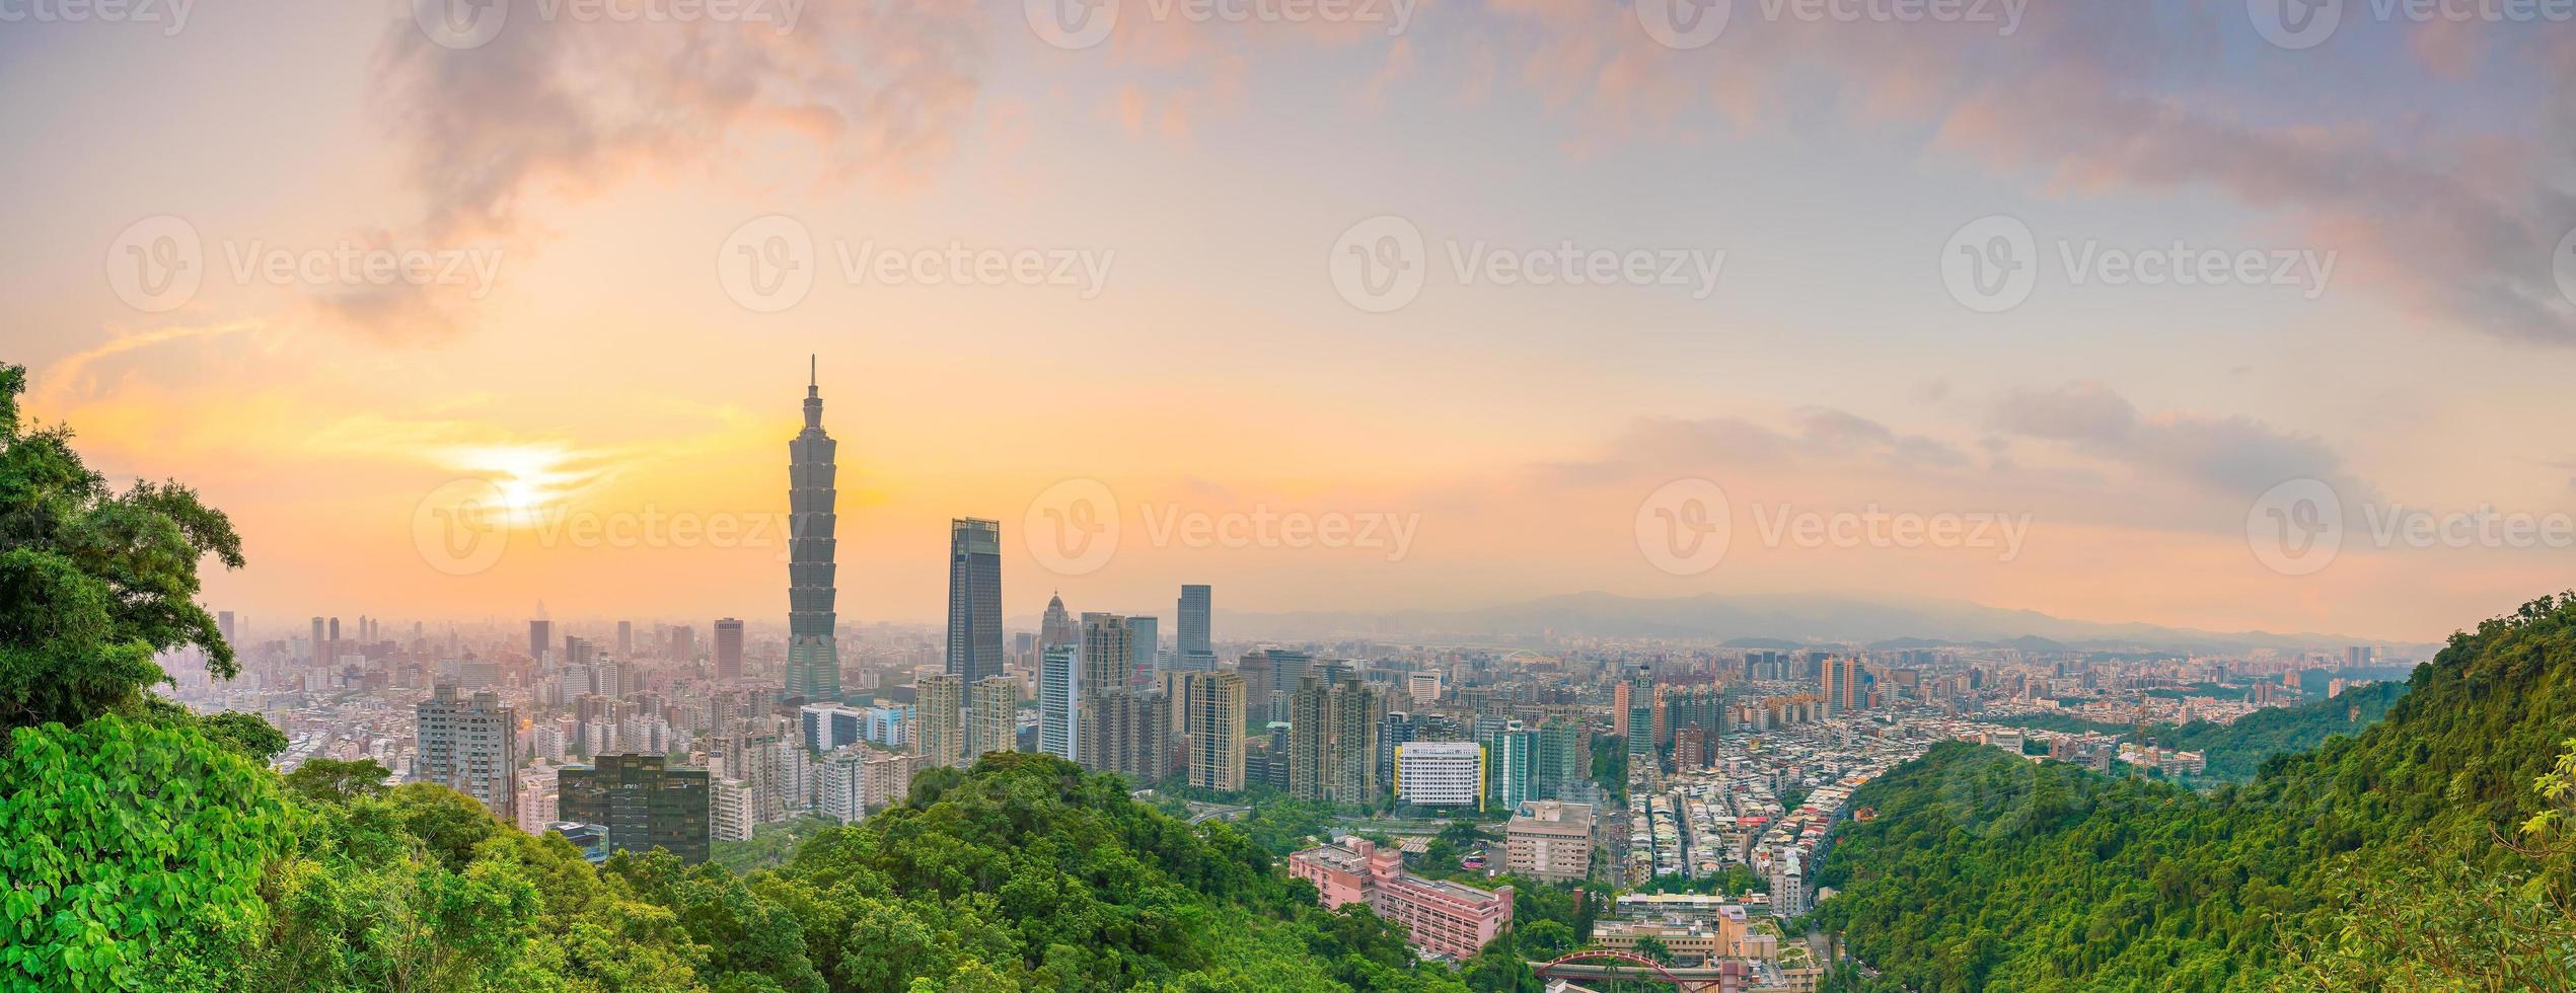
[[[788,697],[840,702],[832,643],[832,435],[822,432],[822,386],[806,373],[806,430],[788,440]]]

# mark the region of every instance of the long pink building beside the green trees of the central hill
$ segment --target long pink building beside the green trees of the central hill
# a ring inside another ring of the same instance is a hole
[[[1314,882],[1327,911],[1368,903],[1381,918],[1401,924],[1406,942],[1430,954],[1468,960],[1512,926],[1512,888],[1479,890],[1425,880],[1404,872],[1401,852],[1378,852],[1368,839],[1291,854],[1288,872]]]

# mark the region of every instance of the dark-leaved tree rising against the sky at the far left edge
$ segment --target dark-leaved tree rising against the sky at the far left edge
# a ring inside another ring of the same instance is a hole
[[[155,653],[196,646],[232,679],[232,646],[196,605],[196,566],[242,566],[222,512],[178,481],[108,489],[67,427],[26,430],[26,368],[0,365],[0,731],[139,715],[170,674]]]

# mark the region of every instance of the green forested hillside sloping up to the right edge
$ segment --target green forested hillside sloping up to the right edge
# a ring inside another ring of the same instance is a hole
[[[2550,597],[2210,795],[1945,743],[1852,797],[1814,924],[1888,990],[2568,988],[2571,733]]]

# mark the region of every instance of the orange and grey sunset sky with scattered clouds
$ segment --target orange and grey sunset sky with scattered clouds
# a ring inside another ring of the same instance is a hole
[[[1837,592],[2429,641],[2576,561],[2576,26],[2367,0],[0,0],[0,358],[309,615]]]

